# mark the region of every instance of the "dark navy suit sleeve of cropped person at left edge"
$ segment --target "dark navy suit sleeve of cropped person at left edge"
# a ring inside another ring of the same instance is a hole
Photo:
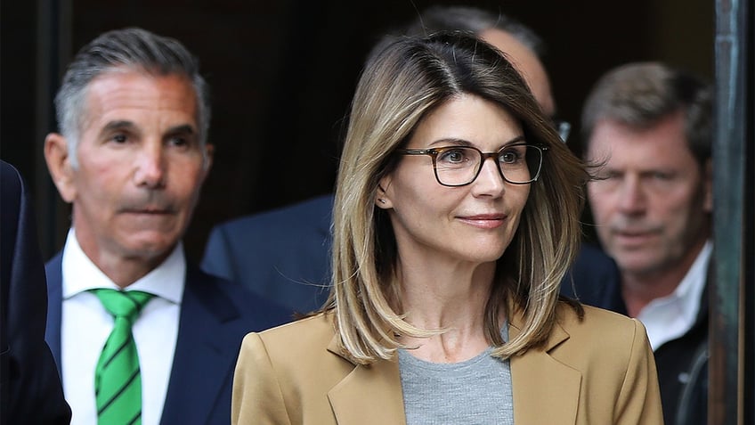
[[[19,172],[0,163],[0,423],[70,423],[70,408],[45,343],[45,266],[34,214]]]

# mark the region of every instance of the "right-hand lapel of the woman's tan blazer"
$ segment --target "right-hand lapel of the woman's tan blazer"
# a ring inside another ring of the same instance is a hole
[[[519,330],[510,327],[512,337]],[[516,423],[573,425],[579,404],[581,373],[556,361],[548,352],[569,338],[556,324],[545,349],[532,349],[511,357]]]

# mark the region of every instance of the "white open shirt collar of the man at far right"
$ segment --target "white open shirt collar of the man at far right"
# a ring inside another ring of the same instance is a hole
[[[700,297],[708,278],[711,250],[712,245],[708,241],[677,289],[666,297],[655,298],[637,315],[637,320],[647,329],[647,337],[654,351],[692,329],[700,311]]]

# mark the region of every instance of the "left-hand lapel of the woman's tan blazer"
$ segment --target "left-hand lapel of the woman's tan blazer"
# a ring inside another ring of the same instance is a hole
[[[337,356],[340,354],[337,339],[328,347]],[[369,366],[356,364],[328,392],[330,406],[338,425],[404,425],[401,377],[397,361],[379,360]]]

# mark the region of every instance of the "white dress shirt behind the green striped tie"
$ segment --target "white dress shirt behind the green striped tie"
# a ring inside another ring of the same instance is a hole
[[[186,275],[183,245],[126,290],[155,294],[134,323],[134,341],[142,370],[142,424],[158,425],[173,366],[178,320]],[[62,257],[61,367],[63,391],[72,411],[72,425],[96,425],[94,370],[113,328],[113,317],[92,292],[118,290],[69,231]]]

